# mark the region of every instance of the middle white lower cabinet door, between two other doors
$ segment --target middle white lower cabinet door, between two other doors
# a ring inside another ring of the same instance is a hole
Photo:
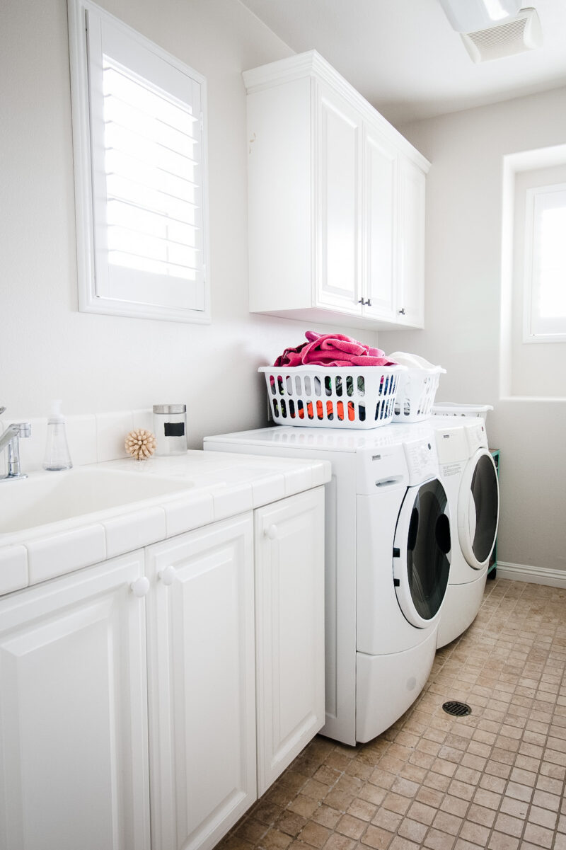
[[[256,799],[252,514],[147,550],[152,850],[207,850]]]

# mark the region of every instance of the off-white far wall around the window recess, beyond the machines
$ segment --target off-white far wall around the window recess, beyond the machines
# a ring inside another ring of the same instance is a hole
[[[502,399],[499,382],[502,157],[563,144],[566,88],[400,130],[433,163],[426,330],[382,333],[380,347],[443,365],[437,399],[494,405],[487,425],[490,445],[501,449],[498,557],[566,570],[566,400]]]

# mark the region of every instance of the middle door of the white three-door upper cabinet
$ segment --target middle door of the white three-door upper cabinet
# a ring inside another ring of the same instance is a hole
[[[364,280],[367,315],[396,320],[397,152],[365,128]]]

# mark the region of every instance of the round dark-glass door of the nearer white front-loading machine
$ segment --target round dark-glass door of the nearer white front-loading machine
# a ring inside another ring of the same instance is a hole
[[[439,613],[450,571],[450,513],[439,479],[409,487],[393,543],[393,584],[399,607],[417,628]]]

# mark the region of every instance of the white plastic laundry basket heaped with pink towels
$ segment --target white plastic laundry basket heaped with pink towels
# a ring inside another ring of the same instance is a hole
[[[392,421],[405,366],[260,366],[278,425],[378,428]]]

